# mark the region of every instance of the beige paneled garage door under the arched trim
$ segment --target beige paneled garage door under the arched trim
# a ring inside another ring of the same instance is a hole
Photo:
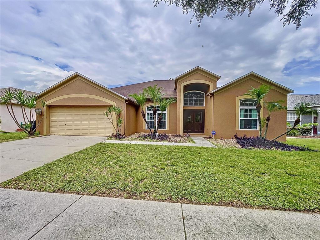
[[[50,107],[50,134],[110,136],[112,124],[106,107]]]

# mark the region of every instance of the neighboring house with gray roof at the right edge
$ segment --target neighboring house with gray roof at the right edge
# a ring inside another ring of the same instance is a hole
[[[312,115],[302,115],[300,117],[300,124],[303,123],[318,123],[318,126],[314,126],[311,132],[311,136],[320,135],[317,134],[320,131],[320,118],[318,118],[320,114],[320,94],[315,95],[302,95],[302,94],[290,94],[288,95],[288,109],[287,109],[287,122],[291,125],[294,123],[294,120],[297,119],[297,114],[294,112],[294,106],[296,103],[313,103],[310,106],[311,109],[315,110],[315,113]]]

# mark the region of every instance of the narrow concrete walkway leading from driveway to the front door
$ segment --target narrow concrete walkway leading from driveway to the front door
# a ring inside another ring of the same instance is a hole
[[[166,143],[166,142],[144,142],[144,141],[120,141],[105,140],[103,143],[124,143],[124,144],[146,144],[146,145],[164,145],[164,146],[193,146],[193,147],[216,147],[203,137],[191,137],[195,143]]]

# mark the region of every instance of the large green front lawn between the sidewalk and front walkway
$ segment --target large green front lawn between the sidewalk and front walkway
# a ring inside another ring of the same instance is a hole
[[[320,153],[99,143],[1,187],[320,211]]]

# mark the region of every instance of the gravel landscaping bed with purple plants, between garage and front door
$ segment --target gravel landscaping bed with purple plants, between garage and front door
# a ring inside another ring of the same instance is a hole
[[[191,137],[179,134],[159,133],[158,139],[155,139],[150,133],[134,133],[128,137],[108,137],[107,140],[123,141],[152,141],[152,142],[172,142],[172,143],[195,143]]]

